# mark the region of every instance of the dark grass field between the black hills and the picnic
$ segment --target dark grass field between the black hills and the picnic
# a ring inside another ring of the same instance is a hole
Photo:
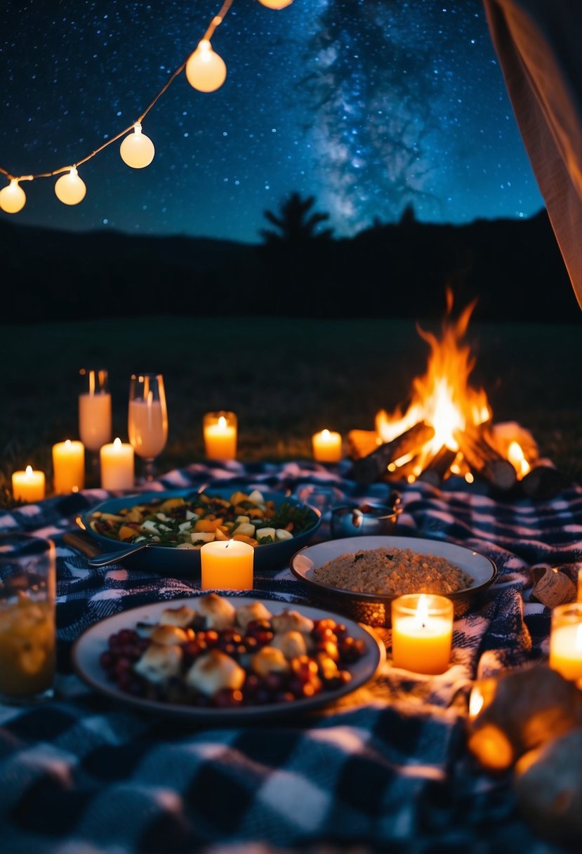
[[[218,409],[238,416],[242,462],[311,459],[314,431],[372,430],[378,410],[405,404],[429,353],[413,321],[391,319],[164,316],[4,326],[2,336],[4,501],[12,471],[30,463],[50,478],[52,444],[78,438],[81,367],[108,369],[113,434],[124,441],[131,373],[164,375],[162,472],[204,459],[202,416]],[[470,383],[486,390],[493,421],[519,422],[542,456],[582,482],[582,325],[469,322],[465,342]]]

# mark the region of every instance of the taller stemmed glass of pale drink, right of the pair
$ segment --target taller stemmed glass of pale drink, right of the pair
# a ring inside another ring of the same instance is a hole
[[[154,459],[168,438],[166,389],[161,374],[131,374],[127,434],[135,453],[143,459],[143,480],[153,480]]]

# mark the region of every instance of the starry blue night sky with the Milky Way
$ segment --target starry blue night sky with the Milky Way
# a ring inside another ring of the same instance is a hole
[[[80,161],[131,126],[188,58],[220,0],[14,0],[0,9],[0,167]],[[398,221],[527,218],[544,207],[480,0],[233,0],[215,92],[181,73],[143,121],[154,161],[106,145],[79,176],[23,182],[0,218],[66,231],[259,243],[293,191],[336,237]],[[0,187],[5,178],[0,175]]]

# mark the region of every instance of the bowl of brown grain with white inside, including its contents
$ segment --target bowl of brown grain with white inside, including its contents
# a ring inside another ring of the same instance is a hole
[[[435,593],[462,617],[496,579],[486,555],[442,540],[358,536],[301,548],[290,561],[317,605],[371,626],[390,626],[392,600]]]

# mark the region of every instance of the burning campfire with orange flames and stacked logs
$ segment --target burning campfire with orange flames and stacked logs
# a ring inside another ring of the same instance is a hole
[[[476,300],[456,320],[452,303],[447,290],[440,337],[417,325],[430,354],[426,373],[412,381],[405,411],[382,409],[375,430],[348,434],[352,476],[359,483],[421,479],[439,486],[454,475],[534,498],[556,494],[564,486],[562,474],[540,459],[529,430],[513,421],[495,424],[485,390],[469,383],[475,360],[463,338]]]

